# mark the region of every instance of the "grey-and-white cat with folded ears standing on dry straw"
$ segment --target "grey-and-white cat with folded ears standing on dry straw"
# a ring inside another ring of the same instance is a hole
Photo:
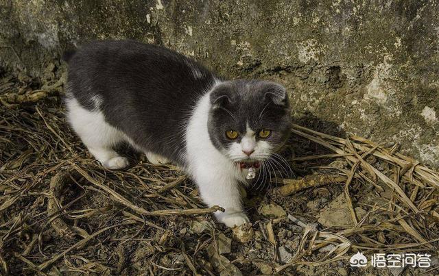
[[[128,142],[154,164],[182,166],[228,227],[248,223],[239,185],[285,143],[291,125],[281,84],[226,80],[185,55],[133,40],[90,42],[67,53],[67,120],[110,169],[129,165]]]

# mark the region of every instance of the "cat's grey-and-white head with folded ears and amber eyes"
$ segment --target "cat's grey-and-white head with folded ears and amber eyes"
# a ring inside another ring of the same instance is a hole
[[[210,95],[209,136],[233,162],[270,158],[287,140],[291,116],[285,88],[270,81],[226,81]]]

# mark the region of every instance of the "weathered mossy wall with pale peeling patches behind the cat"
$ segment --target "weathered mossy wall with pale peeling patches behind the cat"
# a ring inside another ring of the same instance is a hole
[[[230,78],[280,81],[295,118],[439,166],[438,1],[0,3],[0,64],[14,71],[47,78],[64,49],[96,38],[157,43]]]

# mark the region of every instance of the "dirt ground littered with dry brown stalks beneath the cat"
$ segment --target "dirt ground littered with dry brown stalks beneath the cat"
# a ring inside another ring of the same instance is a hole
[[[126,146],[119,150],[130,157],[130,168],[100,166],[69,129],[60,94],[59,84],[45,87],[27,76],[0,79],[2,275],[439,273],[439,192],[428,181],[411,185],[403,174],[395,180],[416,214],[398,189],[372,175],[361,178],[367,168],[354,174],[348,198],[348,172],[358,164],[330,155],[333,151],[296,131],[282,152],[286,163],[243,190],[252,224],[228,229],[215,222],[213,210],[176,166],[149,164]],[[311,116],[298,123],[331,130]],[[376,175],[394,173],[392,162],[375,155],[367,162]],[[327,185],[280,192],[288,181],[322,175],[330,179]],[[337,175],[346,178],[331,181]],[[431,267],[351,267],[357,251],[429,253]]]

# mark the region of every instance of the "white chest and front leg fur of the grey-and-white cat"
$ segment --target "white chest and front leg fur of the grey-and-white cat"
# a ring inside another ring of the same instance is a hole
[[[187,126],[187,169],[198,184],[204,202],[226,210],[215,213],[218,221],[233,227],[248,222],[239,192],[239,183],[245,181],[245,172],[219,152],[209,138],[209,95],[207,93],[198,101]]]

